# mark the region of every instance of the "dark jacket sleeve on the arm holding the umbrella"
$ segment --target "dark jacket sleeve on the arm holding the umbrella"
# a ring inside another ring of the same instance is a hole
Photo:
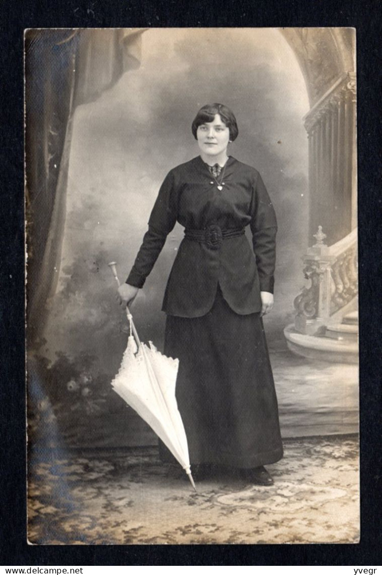
[[[175,181],[173,171],[170,171],[159,189],[148,220],[148,230],[143,236],[142,246],[139,248],[126,283],[135,287],[143,287],[176,221]]]

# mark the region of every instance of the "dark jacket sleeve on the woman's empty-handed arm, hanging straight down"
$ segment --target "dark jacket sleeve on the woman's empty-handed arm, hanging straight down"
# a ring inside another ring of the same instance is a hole
[[[276,265],[276,213],[261,175],[253,186],[250,228],[253,236],[253,251],[262,292],[273,293],[274,267]]]

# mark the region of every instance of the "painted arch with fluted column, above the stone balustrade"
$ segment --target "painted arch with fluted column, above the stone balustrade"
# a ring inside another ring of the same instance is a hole
[[[310,99],[310,240],[321,225],[334,244],[357,226],[355,30],[284,28]]]

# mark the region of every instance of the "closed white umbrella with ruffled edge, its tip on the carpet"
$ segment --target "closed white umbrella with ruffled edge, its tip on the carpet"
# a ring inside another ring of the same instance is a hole
[[[118,285],[116,263],[109,263]],[[140,342],[132,315],[126,308],[130,335],[113,389],[150,425],[188,474],[195,488],[184,425],[175,398],[178,359],[161,354],[150,343]]]

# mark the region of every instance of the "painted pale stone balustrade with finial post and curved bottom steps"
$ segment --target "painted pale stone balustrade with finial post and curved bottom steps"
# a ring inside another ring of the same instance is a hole
[[[357,230],[326,246],[322,228],[304,256],[310,281],[295,298],[295,323],[284,329],[298,355],[336,363],[358,362]]]

